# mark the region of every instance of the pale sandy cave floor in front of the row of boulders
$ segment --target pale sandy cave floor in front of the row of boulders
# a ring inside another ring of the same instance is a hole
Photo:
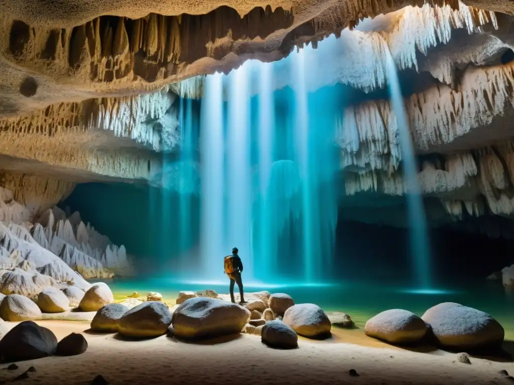
[[[0,369],[0,381],[11,380],[31,365],[35,373],[23,384],[87,384],[101,374],[110,383],[280,383],[280,384],[512,384],[498,372],[514,374],[514,363],[471,357],[471,364],[443,351],[413,352],[346,331],[325,341],[299,340],[295,350],[276,350],[261,338],[241,334],[205,343],[161,336],[124,341],[115,334],[88,332],[89,322],[41,320],[61,339],[83,333],[89,347],[73,357],[21,361],[19,369]],[[8,322],[14,326],[17,322]],[[3,365],[4,368],[7,364]],[[0,368],[2,368],[0,366]],[[348,374],[350,369],[358,377]]]

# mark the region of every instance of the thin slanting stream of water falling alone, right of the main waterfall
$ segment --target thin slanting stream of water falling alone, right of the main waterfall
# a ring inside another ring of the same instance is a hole
[[[401,165],[407,191],[410,247],[414,258],[416,283],[421,291],[428,291],[432,285],[430,269],[430,244],[428,242],[427,218],[423,206],[421,186],[417,179],[416,160],[412,144],[407,113],[403,104],[400,82],[393,56],[385,45],[391,104],[396,116],[398,139],[401,150]]]

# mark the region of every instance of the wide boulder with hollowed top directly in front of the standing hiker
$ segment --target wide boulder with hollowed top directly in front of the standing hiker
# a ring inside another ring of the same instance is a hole
[[[175,336],[209,338],[240,333],[250,320],[250,311],[221,299],[196,297],[184,301],[173,312]]]

